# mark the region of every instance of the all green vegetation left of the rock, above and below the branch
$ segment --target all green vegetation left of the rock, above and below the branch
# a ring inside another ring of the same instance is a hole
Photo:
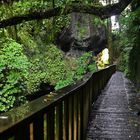
[[[55,6],[68,2],[57,0]],[[9,1],[0,5],[0,20],[52,7],[52,1]],[[0,111],[27,102],[26,96],[39,91],[42,83],[58,90],[96,71],[95,62],[89,64],[91,52],[66,57],[55,45],[57,34],[69,24],[67,15],[0,29]]]

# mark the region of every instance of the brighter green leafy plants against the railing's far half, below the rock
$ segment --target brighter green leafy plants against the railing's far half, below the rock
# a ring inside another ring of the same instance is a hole
[[[81,57],[78,58],[78,60],[75,60],[76,62],[74,64],[75,65],[74,69],[70,67],[71,70],[67,71],[68,72],[67,77],[65,77],[65,79],[58,81],[58,83],[55,86],[55,89],[58,90],[62,87],[75,83],[75,81],[77,80],[81,80],[84,74],[86,74],[89,71],[95,72],[97,70],[96,64],[95,62],[90,63],[91,59],[92,52],[88,52],[84,53]]]

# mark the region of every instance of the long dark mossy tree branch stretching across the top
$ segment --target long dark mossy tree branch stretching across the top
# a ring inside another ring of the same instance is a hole
[[[91,6],[80,3],[72,3],[70,5],[66,5],[65,8],[57,7],[50,10],[37,10],[26,15],[15,16],[2,20],[0,21],[0,28],[17,25],[24,21],[49,19],[54,16],[67,15],[72,12],[93,14],[101,19],[106,19],[112,15],[120,14],[131,3],[131,1],[132,0],[121,0],[119,3],[107,6]]]

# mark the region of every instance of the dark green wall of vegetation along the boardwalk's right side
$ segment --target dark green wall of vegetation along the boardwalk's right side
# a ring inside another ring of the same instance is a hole
[[[115,32],[114,56],[123,71],[140,90],[140,7],[129,8],[120,16],[120,31]]]

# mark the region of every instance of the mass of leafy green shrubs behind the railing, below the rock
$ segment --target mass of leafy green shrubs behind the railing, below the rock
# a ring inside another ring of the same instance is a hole
[[[27,56],[23,45],[10,38],[0,40],[0,110],[6,111],[25,102],[25,96],[40,90],[41,83],[49,83],[56,90],[81,79],[88,71],[91,53],[80,58],[66,58],[55,45],[48,44],[44,53]]]

